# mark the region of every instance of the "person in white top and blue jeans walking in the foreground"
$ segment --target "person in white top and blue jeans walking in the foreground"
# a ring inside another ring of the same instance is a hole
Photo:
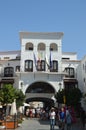
[[[55,116],[56,116],[56,113],[55,113],[55,109],[54,109],[54,108],[51,108],[50,113],[49,113],[49,116],[50,116],[50,130],[54,130],[54,126],[55,126]]]

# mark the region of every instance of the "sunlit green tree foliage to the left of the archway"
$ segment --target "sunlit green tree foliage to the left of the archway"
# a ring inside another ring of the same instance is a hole
[[[21,90],[15,89],[11,84],[5,84],[0,89],[0,102],[2,104],[12,103],[16,99],[17,107],[21,106],[25,100],[25,95]]]

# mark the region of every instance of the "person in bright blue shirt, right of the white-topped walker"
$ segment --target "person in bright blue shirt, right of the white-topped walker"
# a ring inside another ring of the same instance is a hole
[[[59,117],[59,127],[61,128],[61,130],[64,130],[64,127],[65,127],[65,110],[64,110],[63,107],[58,112],[58,117]]]

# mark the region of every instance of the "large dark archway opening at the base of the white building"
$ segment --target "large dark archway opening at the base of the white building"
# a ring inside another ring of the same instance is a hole
[[[32,83],[26,90],[26,102],[43,102],[43,107],[54,106],[52,96],[55,94],[55,89],[46,82]]]

